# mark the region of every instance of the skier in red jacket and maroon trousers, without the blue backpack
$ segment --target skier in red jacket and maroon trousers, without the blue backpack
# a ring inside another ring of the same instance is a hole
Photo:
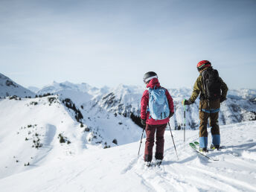
[[[160,86],[157,74],[153,71],[144,74],[144,83],[147,85],[147,89],[159,89]],[[161,160],[164,158],[164,131],[169,122],[170,117],[174,114],[173,98],[170,93],[165,89],[165,95],[167,97],[168,106],[170,109],[170,115],[165,119],[155,120],[150,116],[148,110],[149,105],[149,91],[145,90],[141,97],[141,124],[146,125],[147,140],[145,144],[144,161],[147,162],[147,166],[150,166],[150,162],[153,158],[153,146],[156,132],[156,154],[155,158],[158,163],[161,164]]]

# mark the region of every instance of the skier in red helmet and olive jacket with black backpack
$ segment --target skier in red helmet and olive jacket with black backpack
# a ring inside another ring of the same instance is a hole
[[[228,86],[219,77],[217,70],[211,67],[208,60],[202,60],[197,64],[199,77],[193,86],[193,92],[188,100],[183,100],[183,105],[194,103],[199,96],[199,150],[207,152],[208,132],[207,124],[210,118],[211,149],[220,148],[220,127],[218,124],[220,103],[226,100]]]

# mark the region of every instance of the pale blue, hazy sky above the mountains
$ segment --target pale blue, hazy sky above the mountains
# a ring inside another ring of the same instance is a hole
[[[255,0],[0,0],[0,73],[22,86],[193,87],[209,60],[230,89],[256,89]]]

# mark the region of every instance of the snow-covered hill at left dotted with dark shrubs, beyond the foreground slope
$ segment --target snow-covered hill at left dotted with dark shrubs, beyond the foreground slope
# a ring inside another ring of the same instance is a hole
[[[83,111],[84,119],[77,122],[74,110],[56,95],[7,97],[0,99],[0,109],[0,178],[86,149],[131,143],[141,135],[129,118],[103,111],[95,116],[94,109]]]

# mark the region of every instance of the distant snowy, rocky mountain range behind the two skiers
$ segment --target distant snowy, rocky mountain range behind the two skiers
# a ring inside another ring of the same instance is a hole
[[[61,94],[61,97],[71,97],[71,92],[77,92],[73,97],[74,103],[87,106],[92,109],[98,107],[106,112],[111,112],[114,115],[122,115],[132,118],[136,124],[140,125],[140,101],[145,88],[141,86],[126,86],[119,85],[116,88],[97,89],[86,84],[86,89],[81,84],[73,83],[55,83],[51,85],[51,89],[47,86],[40,90],[41,93],[49,91],[54,94]],[[54,91],[53,91],[54,90]],[[191,96],[192,89],[168,89],[173,97],[175,106],[175,115],[171,118],[170,124],[175,129],[183,127],[183,106],[181,101],[184,98]],[[87,93],[89,99],[82,96]],[[81,94],[81,97],[79,96]],[[221,104],[220,109],[220,124],[232,124],[241,121],[256,120],[256,90],[254,89],[233,89],[228,91],[228,100]],[[79,99],[80,98],[80,99]],[[187,127],[195,129],[199,127],[199,99],[195,104],[187,106]],[[140,125],[141,126],[141,125]]]

